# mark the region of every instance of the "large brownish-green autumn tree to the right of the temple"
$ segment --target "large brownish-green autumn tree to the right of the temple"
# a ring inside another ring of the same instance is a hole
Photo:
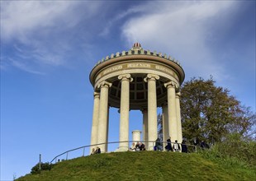
[[[246,136],[252,130],[255,114],[230,95],[230,90],[215,86],[212,77],[206,81],[192,78],[181,92],[183,137],[214,144],[228,133]]]

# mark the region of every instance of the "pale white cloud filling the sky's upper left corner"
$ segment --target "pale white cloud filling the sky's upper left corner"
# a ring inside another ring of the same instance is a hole
[[[75,26],[77,14],[83,5],[83,19],[97,9],[97,3],[84,4],[72,1],[10,1],[2,2],[1,29],[4,39],[27,39],[31,34],[47,28],[66,29]]]

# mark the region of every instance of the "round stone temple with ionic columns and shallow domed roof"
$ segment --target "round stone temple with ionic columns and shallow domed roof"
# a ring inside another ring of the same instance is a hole
[[[118,151],[129,149],[129,113],[143,114],[143,141],[154,149],[158,137],[157,108],[163,110],[164,141],[182,142],[179,87],[185,73],[178,61],[166,54],[142,49],[135,43],[128,51],[103,58],[90,73],[94,89],[91,145],[105,143],[108,134],[109,107],[120,109]],[[107,152],[107,144],[99,146]]]

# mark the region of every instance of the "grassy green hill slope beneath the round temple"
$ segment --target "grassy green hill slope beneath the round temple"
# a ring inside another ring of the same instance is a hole
[[[197,153],[127,151],[65,160],[22,180],[254,180],[255,169]]]

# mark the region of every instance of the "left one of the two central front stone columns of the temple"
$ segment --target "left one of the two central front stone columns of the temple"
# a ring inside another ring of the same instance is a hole
[[[120,103],[120,132],[119,147],[117,151],[129,150],[129,110],[130,110],[130,74],[120,75],[121,80],[121,103]]]

